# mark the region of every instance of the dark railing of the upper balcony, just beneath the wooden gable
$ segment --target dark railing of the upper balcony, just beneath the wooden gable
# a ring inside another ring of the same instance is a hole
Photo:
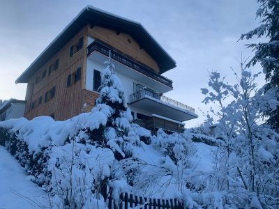
[[[161,84],[165,84],[172,88],[172,80],[159,75],[158,73],[154,72],[151,68],[144,65],[143,63],[138,63],[137,61],[133,60],[132,58],[128,57],[127,55],[122,54],[116,49],[106,45],[104,42],[100,40],[95,40],[88,46],[88,56],[93,52],[97,51],[105,56],[110,56],[115,61],[122,63],[123,65],[128,66],[129,68],[133,68],[137,72],[146,75],[147,77],[151,77],[152,79],[160,82]]]

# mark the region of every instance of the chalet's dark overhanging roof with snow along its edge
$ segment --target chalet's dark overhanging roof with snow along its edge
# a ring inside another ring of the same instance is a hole
[[[146,31],[139,22],[108,13],[93,6],[86,6],[80,13],[63,29],[61,33],[48,45],[45,50],[29,65],[18,77],[15,83],[27,83],[29,78],[45,64],[52,56],[66,45],[86,24],[104,26],[109,29],[128,33],[140,46],[155,59],[160,67],[160,73],[176,67],[176,62],[163,49],[163,47]]]

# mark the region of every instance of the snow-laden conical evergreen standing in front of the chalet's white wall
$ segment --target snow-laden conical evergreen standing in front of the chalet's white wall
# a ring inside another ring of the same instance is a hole
[[[133,146],[140,146],[140,137],[133,131],[133,116],[114,65],[108,61],[105,63],[107,67],[101,72],[100,98],[92,111],[109,111],[101,138],[103,145],[112,149],[116,160],[121,160],[133,155]]]

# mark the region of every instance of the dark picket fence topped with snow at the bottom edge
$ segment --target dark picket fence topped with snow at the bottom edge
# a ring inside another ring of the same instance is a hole
[[[116,205],[112,199],[112,189],[107,196],[107,207],[109,209],[128,209],[128,208],[141,208],[141,209],[182,209],[184,204],[178,199],[153,199],[134,194],[122,193],[119,196],[119,203]]]

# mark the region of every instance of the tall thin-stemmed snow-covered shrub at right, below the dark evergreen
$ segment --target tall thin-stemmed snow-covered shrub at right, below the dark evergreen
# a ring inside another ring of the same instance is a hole
[[[213,136],[222,143],[214,155],[214,171],[207,191],[223,196],[231,207],[273,208],[278,206],[279,134],[264,125],[265,109],[276,109],[275,89],[257,89],[248,69],[236,75],[236,84],[225,83],[218,72],[211,72],[209,87],[202,88],[204,103],[216,102],[206,123],[214,127]],[[214,123],[215,121],[215,123]]]

